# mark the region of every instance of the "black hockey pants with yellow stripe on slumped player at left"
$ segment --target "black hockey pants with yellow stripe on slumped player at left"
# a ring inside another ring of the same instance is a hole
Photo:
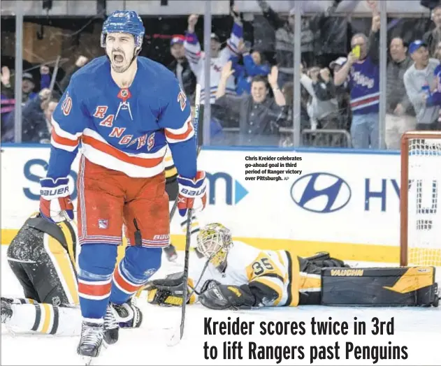
[[[27,286],[27,298],[53,305],[79,303],[74,225],[68,221],[55,224],[35,213],[10,243],[10,267],[20,282],[33,284]],[[28,265],[31,271],[25,268]]]

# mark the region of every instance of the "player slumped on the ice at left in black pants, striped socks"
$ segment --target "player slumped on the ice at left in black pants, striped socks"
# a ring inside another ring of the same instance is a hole
[[[32,214],[10,243],[8,263],[20,282],[24,298],[1,298],[1,323],[20,331],[51,335],[79,335],[75,224],[58,224]],[[106,312],[106,341],[117,323],[138,328],[142,314],[131,303],[113,305]]]

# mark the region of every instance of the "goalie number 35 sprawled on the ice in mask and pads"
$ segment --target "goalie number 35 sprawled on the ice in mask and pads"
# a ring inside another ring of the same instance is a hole
[[[301,258],[291,251],[233,242],[222,224],[198,234],[189,266],[189,303],[210,309],[297,305],[438,306],[434,267],[349,268],[326,253]],[[147,283],[147,301],[182,304],[182,274]],[[198,295],[198,296],[196,296]]]

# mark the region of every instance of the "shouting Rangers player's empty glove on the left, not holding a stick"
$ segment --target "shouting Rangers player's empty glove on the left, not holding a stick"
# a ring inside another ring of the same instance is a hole
[[[73,220],[73,204],[68,182],[68,178],[40,180],[40,213],[45,219],[53,222]]]

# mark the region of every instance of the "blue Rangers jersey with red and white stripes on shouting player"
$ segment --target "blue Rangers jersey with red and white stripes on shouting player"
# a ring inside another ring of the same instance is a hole
[[[129,88],[110,75],[107,57],[76,72],[52,115],[48,177],[66,177],[78,152],[129,177],[164,171],[170,146],[178,173],[196,175],[196,136],[190,105],[175,75],[145,57]]]

